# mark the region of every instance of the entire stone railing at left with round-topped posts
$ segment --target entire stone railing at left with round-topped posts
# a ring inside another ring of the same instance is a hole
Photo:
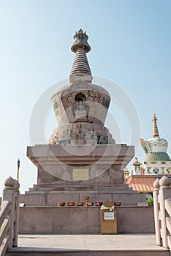
[[[4,181],[0,210],[0,256],[18,246],[19,183],[9,176]]]

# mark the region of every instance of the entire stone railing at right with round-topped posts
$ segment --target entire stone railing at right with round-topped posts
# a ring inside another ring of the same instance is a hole
[[[171,251],[171,180],[163,176],[153,183],[156,244]]]

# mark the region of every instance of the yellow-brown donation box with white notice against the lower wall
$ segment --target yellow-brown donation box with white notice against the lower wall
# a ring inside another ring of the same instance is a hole
[[[106,201],[107,202],[107,201]],[[117,234],[117,214],[114,211],[114,207],[112,206],[104,206],[101,207],[100,211],[100,219],[101,219],[101,234]],[[109,202],[110,203],[110,202]]]

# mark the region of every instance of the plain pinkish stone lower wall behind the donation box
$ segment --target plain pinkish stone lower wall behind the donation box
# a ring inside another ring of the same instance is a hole
[[[154,233],[153,206],[119,206],[118,233]],[[20,234],[99,234],[100,207],[20,208]]]

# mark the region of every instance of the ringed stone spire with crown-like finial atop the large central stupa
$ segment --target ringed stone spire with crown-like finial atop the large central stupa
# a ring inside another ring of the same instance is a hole
[[[75,59],[72,64],[72,69],[69,75],[70,83],[75,82],[76,80],[86,80],[88,83],[92,81],[91,69],[88,64],[88,59],[86,53],[91,50],[90,45],[88,45],[88,35],[86,31],[83,32],[80,29],[76,32],[74,36],[75,42],[73,43],[71,50],[76,53]]]

